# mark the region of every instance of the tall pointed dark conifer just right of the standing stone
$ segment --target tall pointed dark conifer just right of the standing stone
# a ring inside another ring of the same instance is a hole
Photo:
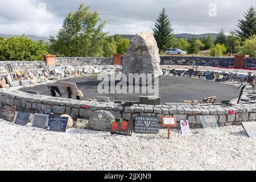
[[[172,24],[164,8],[160,12],[158,19],[156,19],[153,31],[155,40],[158,43],[159,52],[164,51],[168,48],[172,34],[174,33],[174,29],[172,28]]]

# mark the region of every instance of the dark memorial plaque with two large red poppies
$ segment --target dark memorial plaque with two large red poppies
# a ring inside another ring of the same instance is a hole
[[[131,133],[133,133],[133,121],[125,121],[122,119],[120,119],[119,121],[115,121],[113,119],[111,123],[110,133],[131,136]]]

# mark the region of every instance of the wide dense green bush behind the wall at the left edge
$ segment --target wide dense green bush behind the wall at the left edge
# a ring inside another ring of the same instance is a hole
[[[43,60],[48,45],[43,40],[34,41],[26,35],[0,38],[0,60]]]

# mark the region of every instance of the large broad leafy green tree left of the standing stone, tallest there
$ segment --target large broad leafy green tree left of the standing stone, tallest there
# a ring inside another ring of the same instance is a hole
[[[102,45],[105,35],[102,22],[97,11],[90,12],[89,6],[80,4],[75,13],[69,13],[56,38],[50,37],[50,50],[63,56],[102,56]]]

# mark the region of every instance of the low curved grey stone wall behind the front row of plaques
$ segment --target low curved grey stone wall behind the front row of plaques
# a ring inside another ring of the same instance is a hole
[[[241,122],[256,121],[256,104],[238,104],[234,106],[220,105],[141,105],[134,104],[123,106],[103,102],[78,101],[69,98],[56,98],[44,95],[32,95],[20,90],[2,89],[0,102],[15,105],[18,111],[39,113],[45,109],[52,109],[53,113],[69,114],[81,118],[89,118],[93,111],[108,110],[115,119],[134,119],[137,115],[174,116],[177,119],[177,127],[181,119],[188,119],[192,128],[202,127],[200,115],[214,115],[219,126],[240,125]],[[87,106],[84,109],[83,106]],[[234,115],[229,111],[234,111]]]

